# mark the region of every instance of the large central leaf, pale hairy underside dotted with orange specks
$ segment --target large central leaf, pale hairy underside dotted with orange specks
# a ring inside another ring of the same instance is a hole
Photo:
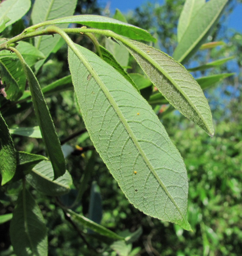
[[[145,214],[191,230],[186,168],[154,111],[110,65],[71,47],[68,62],[83,120],[125,196]]]

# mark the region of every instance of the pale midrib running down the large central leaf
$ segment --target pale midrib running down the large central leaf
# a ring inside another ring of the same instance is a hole
[[[163,182],[161,181],[161,179],[159,178],[159,176],[157,175],[157,173],[155,172],[155,169],[153,168],[152,164],[150,163],[149,159],[147,158],[145,152],[143,151],[143,149],[141,148],[139,141],[137,140],[137,138],[135,137],[134,133],[132,132],[128,122],[126,121],[124,115],[122,114],[121,110],[119,109],[117,103],[115,102],[115,100],[113,99],[111,93],[109,92],[109,90],[107,89],[107,87],[105,86],[105,84],[102,82],[102,80],[100,79],[100,77],[98,76],[98,74],[94,71],[94,69],[92,68],[91,64],[87,61],[87,59],[82,55],[82,53],[76,48],[76,46],[74,45],[74,43],[68,43],[70,48],[73,50],[73,52],[76,54],[76,56],[83,62],[83,64],[85,65],[85,67],[87,68],[87,70],[91,73],[91,75],[93,76],[93,78],[96,80],[96,82],[98,83],[99,87],[101,88],[101,90],[103,91],[103,93],[105,94],[105,96],[107,97],[108,101],[110,102],[110,105],[113,107],[113,109],[115,110],[116,114],[118,115],[120,121],[122,122],[122,124],[124,125],[126,131],[128,132],[130,138],[132,139],[133,143],[135,144],[136,148],[138,149],[140,155],[143,157],[147,167],[150,169],[150,171],[153,173],[153,175],[155,176],[155,178],[157,179],[157,181],[159,182],[160,186],[163,188],[163,190],[165,191],[165,193],[167,194],[167,196],[169,197],[169,199],[171,200],[171,202],[174,204],[174,206],[176,207],[176,209],[179,211],[181,217],[183,220],[186,221],[184,214],[181,212],[181,210],[179,209],[179,207],[177,206],[176,202],[174,201],[174,199],[172,198],[171,194],[169,193],[169,191],[166,189],[165,185],[163,184]]]

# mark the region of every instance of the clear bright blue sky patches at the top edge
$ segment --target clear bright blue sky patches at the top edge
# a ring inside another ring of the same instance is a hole
[[[127,13],[129,10],[134,10],[136,7],[146,2],[147,0],[98,0],[98,3],[101,4],[102,7],[110,4],[109,9],[111,10],[111,13],[115,12],[115,8],[120,9],[120,11],[123,13]],[[153,2],[162,4],[164,1],[154,0]],[[238,4],[236,6],[228,19],[228,24],[226,25],[228,25],[229,28],[235,29],[242,33],[242,4]]]

